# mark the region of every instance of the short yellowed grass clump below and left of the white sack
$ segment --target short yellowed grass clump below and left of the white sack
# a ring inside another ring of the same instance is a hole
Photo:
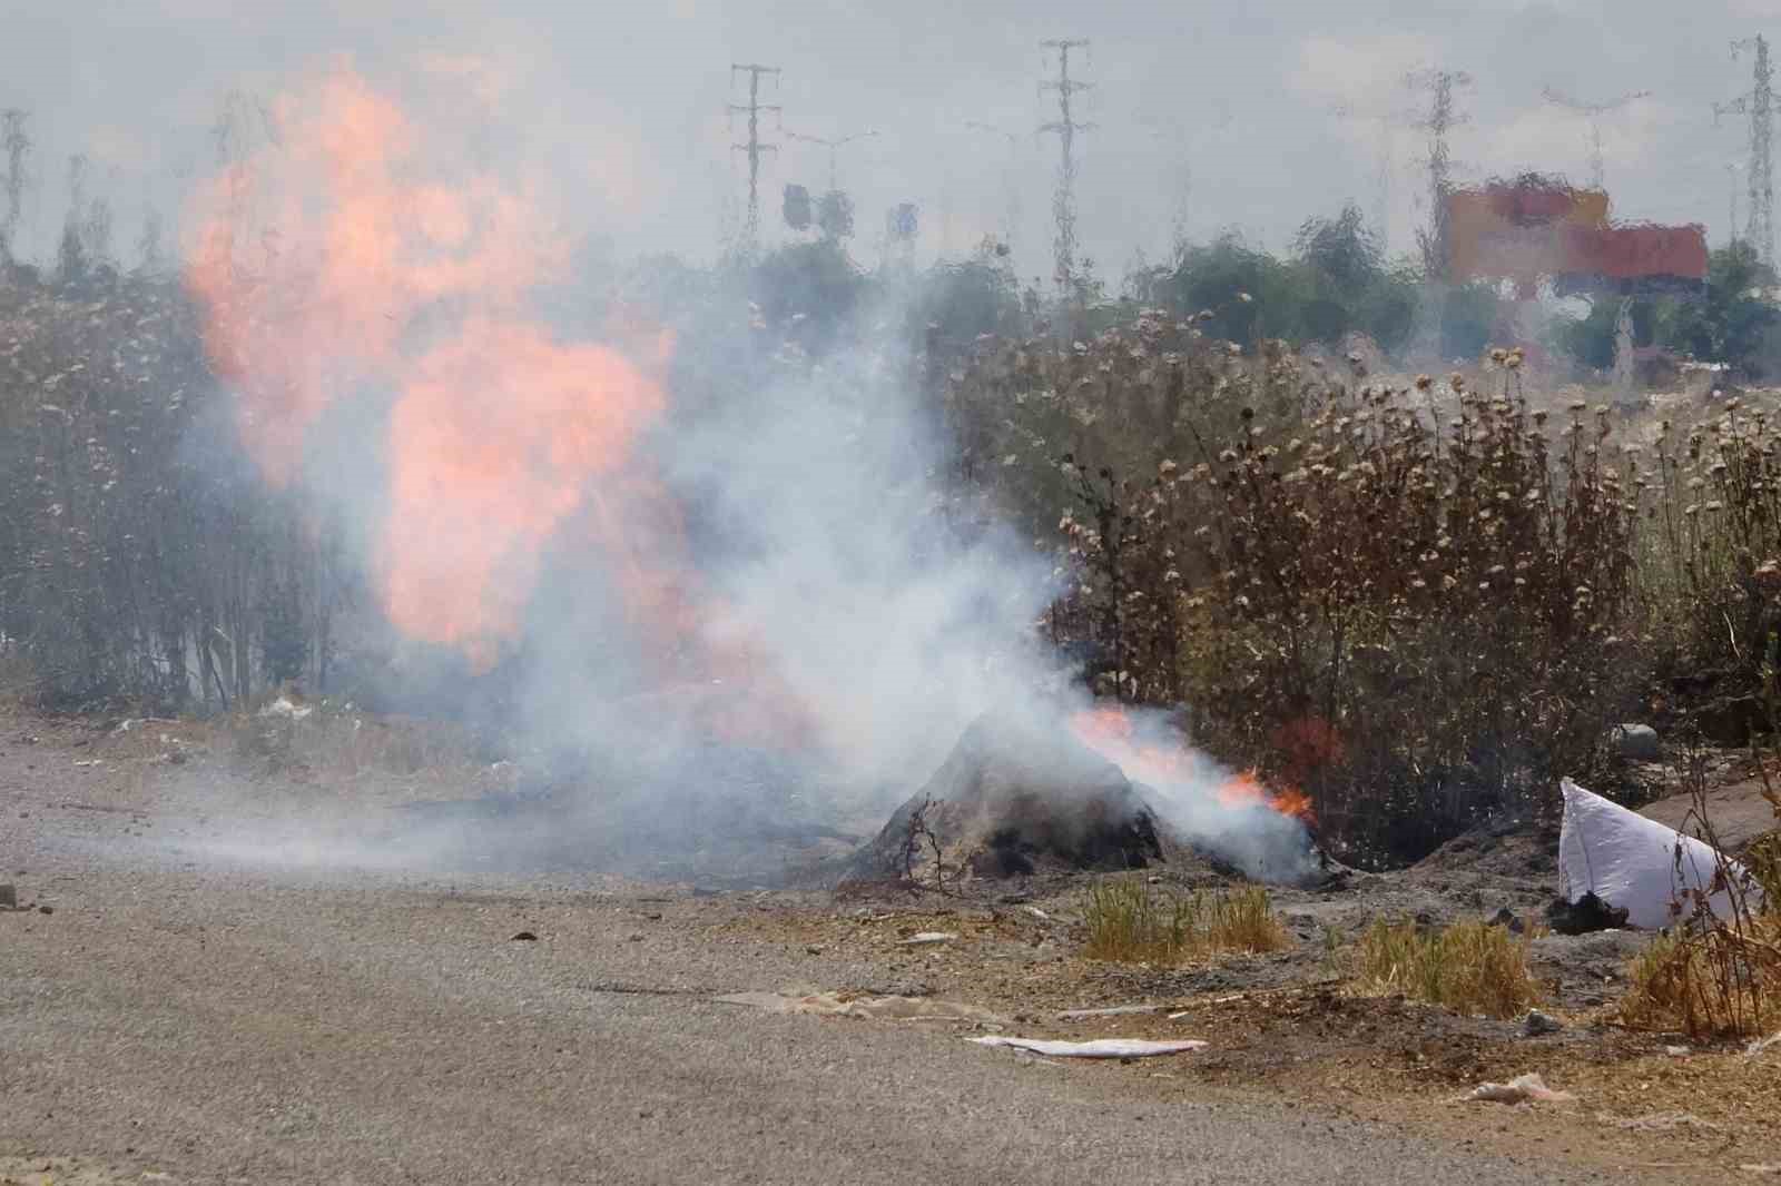
[[[1425,931],[1375,919],[1361,935],[1359,971],[1375,992],[1402,992],[1457,1013],[1516,1017],[1539,1001],[1528,972],[1532,935],[1484,921]]]

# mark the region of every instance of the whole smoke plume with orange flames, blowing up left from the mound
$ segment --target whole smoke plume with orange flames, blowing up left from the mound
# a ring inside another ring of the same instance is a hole
[[[415,110],[344,64],[271,107],[189,210],[207,349],[264,479],[347,524],[388,629],[511,675],[606,841],[894,803],[988,709],[1090,709],[1035,645],[1049,561],[946,525],[899,310],[817,356],[721,285],[673,333],[623,301],[586,333],[543,312],[573,253],[540,187]],[[1293,805],[1079,732],[1247,865],[1305,851]]]

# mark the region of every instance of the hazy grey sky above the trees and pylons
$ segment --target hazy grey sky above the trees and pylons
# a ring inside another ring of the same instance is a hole
[[[1587,178],[1585,119],[1541,100],[1555,85],[1582,100],[1653,96],[1605,118],[1606,182],[1622,217],[1701,221],[1724,239],[1731,178],[1747,123],[1715,126],[1712,103],[1749,89],[1733,37],[1781,37],[1781,0],[1729,4],[1065,4],[1063,0],[4,0],[7,66],[0,107],[32,112],[39,183],[28,226],[53,242],[66,160],[94,160],[91,192],[118,208],[118,240],[135,240],[144,196],[171,208],[176,178],[212,160],[208,126],[230,89],[272,96],[329,55],[351,53],[374,80],[474,57],[465,85],[497,94],[525,155],[550,162],[582,228],[622,251],[709,256],[736,217],[744,169],[727,151],[730,62],[784,68],[771,102],[784,126],[876,139],[841,155],[855,192],[855,255],[876,262],[883,210],[923,208],[923,251],[996,230],[1019,194],[1026,274],[1049,274],[1056,118],[1037,82],[1053,66],[1044,37],[1094,41],[1079,77],[1095,91],[1079,141],[1079,233],[1117,281],[1133,253],[1167,251],[1184,219],[1195,239],[1236,226],[1284,246],[1311,214],[1345,199],[1371,210],[1380,125],[1409,114],[1405,69],[1466,69],[1469,123],[1453,135],[1459,176],[1523,167]],[[426,110],[413,112],[427,119]],[[992,123],[1013,144],[967,130]],[[454,134],[438,118],[442,132]],[[780,137],[775,137],[780,139]],[[1391,240],[1411,246],[1425,135],[1393,135]],[[778,230],[785,182],[826,180],[821,148],[782,141],[766,175],[764,224]],[[1742,182],[1740,182],[1742,185]],[[1745,199],[1738,199],[1740,219]],[[171,214],[171,210],[169,210]],[[128,251],[126,251],[128,258]]]

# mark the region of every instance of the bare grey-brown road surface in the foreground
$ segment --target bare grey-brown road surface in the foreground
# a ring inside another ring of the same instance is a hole
[[[1147,1061],[712,1003],[874,971],[736,938],[748,894],[224,858],[191,796],[7,730],[0,881],[30,908],[0,914],[0,1182],[1610,1177]]]

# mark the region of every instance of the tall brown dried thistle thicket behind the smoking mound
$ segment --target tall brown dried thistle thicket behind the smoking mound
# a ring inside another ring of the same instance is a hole
[[[1492,392],[1355,390],[1279,345],[1158,354],[1143,324],[960,379],[1006,395],[981,427],[1003,495],[1061,458],[1022,497],[1069,499],[1047,627],[1099,691],[1186,703],[1195,744],[1300,785],[1355,864],[1599,771],[1640,684],[1640,493],[1606,410],[1549,424],[1507,354]]]

